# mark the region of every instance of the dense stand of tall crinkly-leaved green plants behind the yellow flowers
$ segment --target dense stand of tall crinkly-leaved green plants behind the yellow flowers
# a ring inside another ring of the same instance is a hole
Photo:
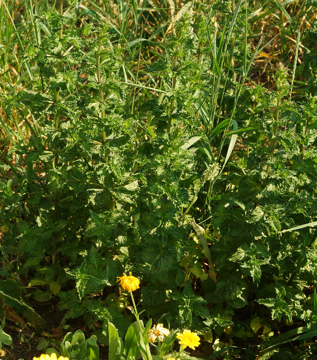
[[[236,356],[241,339],[245,358],[308,359],[283,341],[304,349],[316,331],[316,25],[300,40],[307,88],[293,84],[296,63],[291,80],[280,62],[268,90],[250,79],[270,42],[251,46],[262,15],[242,1],[190,3],[171,30],[168,15],[131,40],[139,15],[157,9],[116,3],[116,21],[98,21],[101,8],[83,18],[74,5],[32,14],[23,87],[1,87],[6,120],[19,114],[29,131],[13,141],[4,126],[12,146],[1,145],[3,309],[37,333],[46,323],[26,297],[54,298],[63,325],[82,316],[94,335],[66,334],[70,359],[98,358],[97,340],[109,359],[150,360],[146,333],[160,322],[171,334],[155,360],[177,358],[185,327],[212,342],[210,359]],[[142,329],[116,284],[129,271],[141,280]],[[0,340],[9,345],[4,332]]]

